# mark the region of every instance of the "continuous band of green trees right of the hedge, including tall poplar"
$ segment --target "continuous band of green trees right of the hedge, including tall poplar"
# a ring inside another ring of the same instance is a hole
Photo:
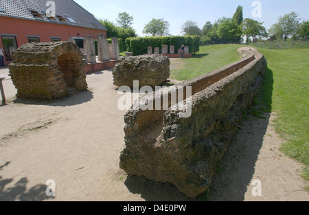
[[[255,42],[258,38],[284,38],[292,37],[295,39],[309,38],[309,21],[300,23],[298,14],[290,12],[280,16],[277,23],[266,31],[262,22],[243,18],[242,6],[238,6],[232,18],[222,17],[211,23],[207,21],[203,29],[200,29],[196,22],[187,21],[183,24],[182,32],[185,35],[201,36],[201,43],[240,43],[242,38]]]

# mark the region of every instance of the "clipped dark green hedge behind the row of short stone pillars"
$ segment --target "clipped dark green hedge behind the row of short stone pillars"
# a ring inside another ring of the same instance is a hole
[[[153,36],[153,37],[132,37],[126,38],[126,47],[128,52],[133,52],[134,56],[147,54],[148,46],[152,47],[154,52],[155,47],[160,48],[162,53],[162,45],[175,46],[175,52],[181,45],[189,46],[189,52],[196,54],[200,50],[200,36]]]

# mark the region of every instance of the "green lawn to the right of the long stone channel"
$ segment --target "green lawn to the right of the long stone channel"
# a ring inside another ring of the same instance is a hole
[[[278,115],[275,128],[286,139],[281,150],[306,165],[309,180],[309,49],[259,51],[268,62],[262,103]]]

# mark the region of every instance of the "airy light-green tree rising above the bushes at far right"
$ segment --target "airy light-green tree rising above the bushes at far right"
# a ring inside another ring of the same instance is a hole
[[[283,32],[284,41],[288,36],[293,36],[297,32],[297,26],[299,25],[298,14],[295,12],[290,12],[284,16],[279,17],[278,26],[279,31]]]

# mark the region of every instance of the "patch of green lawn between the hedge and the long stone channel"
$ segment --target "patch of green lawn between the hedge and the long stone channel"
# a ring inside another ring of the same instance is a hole
[[[188,80],[240,60],[236,52],[240,45],[201,46],[193,58],[183,59],[184,67],[171,71],[174,80]]]

